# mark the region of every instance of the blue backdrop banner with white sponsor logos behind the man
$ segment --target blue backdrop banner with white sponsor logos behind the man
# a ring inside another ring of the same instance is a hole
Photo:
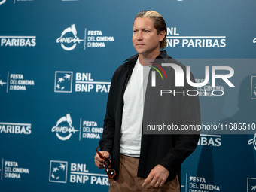
[[[255,8],[252,0],[0,0],[0,191],[108,191],[93,157],[111,77],[136,54],[133,19],[148,9],[166,20],[167,53],[200,85],[179,93],[198,94],[202,114],[181,191],[256,191]]]

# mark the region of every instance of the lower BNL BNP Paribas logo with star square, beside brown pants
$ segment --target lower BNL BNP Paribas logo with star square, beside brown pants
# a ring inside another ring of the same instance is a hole
[[[60,160],[50,160],[49,182],[109,185],[107,175],[90,172],[86,163]]]

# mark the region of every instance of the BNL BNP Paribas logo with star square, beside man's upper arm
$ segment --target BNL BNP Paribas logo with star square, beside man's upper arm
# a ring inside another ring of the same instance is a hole
[[[75,82],[73,82],[73,72],[56,71],[54,92],[72,93],[72,91],[75,91],[84,93],[108,93],[110,84],[111,82],[95,81],[92,73],[84,72],[76,72]],[[75,89],[72,90],[72,87],[75,87]]]

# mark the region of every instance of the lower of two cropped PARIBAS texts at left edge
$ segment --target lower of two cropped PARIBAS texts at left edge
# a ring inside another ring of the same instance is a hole
[[[0,122],[0,134],[31,134],[31,124],[30,123],[4,123]]]

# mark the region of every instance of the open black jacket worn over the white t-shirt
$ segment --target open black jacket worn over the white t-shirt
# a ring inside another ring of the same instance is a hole
[[[111,80],[111,89],[108,95],[108,104],[104,120],[104,130],[102,139],[99,141],[101,151],[108,151],[111,154],[112,168],[119,171],[119,157],[120,157],[120,129],[123,113],[123,93],[126,89],[127,82],[132,75],[133,68],[136,64],[138,55],[132,56],[126,60],[123,65],[117,68]],[[157,56],[157,59],[163,59],[169,62],[171,59],[166,54],[166,51]],[[185,67],[176,62],[182,69]],[[157,91],[162,84],[167,84],[170,89],[175,87],[175,72],[174,70],[166,69],[168,81],[158,85],[158,87],[151,87],[151,75],[148,78],[147,92],[145,94],[145,109],[143,116],[143,126],[146,126],[151,119],[158,120],[160,123],[162,119],[168,117],[168,122],[175,123],[178,126],[181,124],[200,124],[200,104],[198,96],[160,96]],[[158,78],[160,75],[156,75]],[[184,75],[185,76],[185,75]],[[191,75],[192,81],[194,80]],[[185,90],[195,90],[190,87],[186,81],[184,85]],[[181,90],[181,87],[178,87]],[[160,105],[157,100],[162,100],[164,103]],[[151,110],[154,108],[154,110]],[[164,118],[163,118],[164,117]],[[179,181],[181,178],[181,163],[195,150],[200,134],[143,134],[142,130],[142,144],[141,154],[139,158],[138,177],[147,178],[151,169],[157,164],[164,166],[169,170],[169,177],[167,181],[175,178],[178,174]]]

